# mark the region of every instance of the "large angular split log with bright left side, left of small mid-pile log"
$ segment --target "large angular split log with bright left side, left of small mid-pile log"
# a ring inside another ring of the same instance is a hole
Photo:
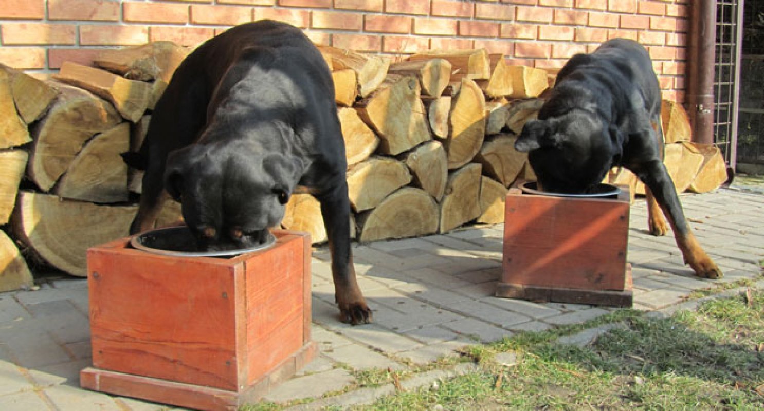
[[[404,76],[356,105],[358,115],[382,139],[379,146],[382,153],[397,155],[432,140],[419,95],[419,81]]]

